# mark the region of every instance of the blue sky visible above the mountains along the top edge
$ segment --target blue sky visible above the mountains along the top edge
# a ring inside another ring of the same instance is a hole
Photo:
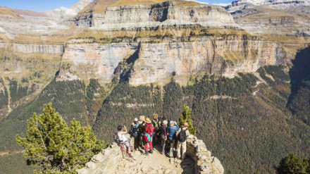
[[[46,11],[61,6],[70,7],[79,0],[0,0],[0,6],[31,11]],[[128,0],[130,1],[130,0]],[[167,0],[168,1],[168,0]],[[200,0],[209,4],[230,3],[233,0]]]

